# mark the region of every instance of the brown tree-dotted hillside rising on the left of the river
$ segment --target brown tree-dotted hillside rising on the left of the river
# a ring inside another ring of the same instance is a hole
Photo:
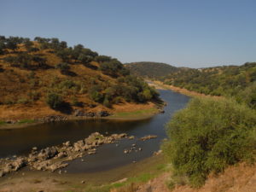
[[[0,37],[0,120],[149,108],[157,92],[110,56],[58,38]],[[133,107],[131,107],[133,106]]]

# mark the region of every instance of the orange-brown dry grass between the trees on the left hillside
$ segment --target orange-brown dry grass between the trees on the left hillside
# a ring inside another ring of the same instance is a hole
[[[37,42],[34,42],[38,46]],[[19,45],[19,51],[26,51],[23,45]],[[80,108],[90,112],[98,112],[107,110],[110,113],[132,112],[138,110],[147,110],[153,108],[154,104],[149,102],[147,104],[137,103],[120,103],[113,105],[113,108],[106,108],[99,103],[90,100],[87,95],[87,90],[90,89],[91,81],[96,81],[103,86],[108,87],[111,84],[117,84],[117,80],[103,74],[99,70],[85,67],[82,63],[70,65],[70,72],[74,76],[67,76],[55,69],[55,65],[61,62],[61,58],[50,52],[50,49],[38,50],[29,53],[30,55],[41,55],[47,60],[49,69],[38,69],[34,71],[35,77],[31,78],[32,71],[22,69],[19,67],[11,67],[10,63],[3,61],[6,56],[17,55],[9,51],[9,54],[0,55],[0,66],[3,68],[3,73],[0,72],[0,119],[38,119],[46,115],[60,115],[60,111],[55,111],[45,104],[45,97],[49,90],[54,90],[57,84],[61,81],[70,79],[78,84],[83,84],[84,91],[64,90],[63,98],[65,102],[72,102],[73,97],[76,97],[79,102],[84,105]],[[73,61],[71,61],[73,63]],[[92,61],[90,65],[99,67],[96,61]],[[57,82],[57,83],[56,83]],[[54,84],[54,85],[50,85]],[[38,101],[32,101],[31,93],[38,94]],[[2,104],[1,104],[2,103]],[[66,114],[64,114],[66,115]]]

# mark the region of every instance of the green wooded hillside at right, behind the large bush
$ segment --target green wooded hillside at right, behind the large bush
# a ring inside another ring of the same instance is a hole
[[[186,69],[166,77],[166,84],[212,96],[236,96],[253,84],[256,63],[242,66]]]

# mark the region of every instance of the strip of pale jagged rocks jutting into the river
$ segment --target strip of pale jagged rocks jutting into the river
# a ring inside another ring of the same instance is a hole
[[[149,135],[140,138],[140,140],[145,141],[155,137],[156,136]],[[84,140],[79,140],[76,143],[67,141],[59,146],[43,148],[41,150],[34,147],[32,148],[31,153],[27,156],[14,156],[13,158],[0,159],[0,177],[3,177],[10,172],[17,172],[24,166],[28,166],[31,170],[55,172],[58,169],[68,166],[68,161],[86,155],[96,154],[96,148],[100,145],[118,143],[118,141],[123,138],[135,139],[133,136],[128,137],[125,133],[103,136],[102,134],[95,132]],[[130,153],[131,150],[141,151],[143,149],[136,149],[136,145],[133,144],[131,149],[125,149],[124,153]],[[59,173],[61,173],[61,170]]]

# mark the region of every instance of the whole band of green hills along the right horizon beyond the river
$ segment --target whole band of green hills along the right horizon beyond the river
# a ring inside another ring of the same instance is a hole
[[[237,101],[256,108],[256,62],[199,69],[154,62],[130,63],[125,67],[139,77],[157,79],[205,95],[234,96]]]

